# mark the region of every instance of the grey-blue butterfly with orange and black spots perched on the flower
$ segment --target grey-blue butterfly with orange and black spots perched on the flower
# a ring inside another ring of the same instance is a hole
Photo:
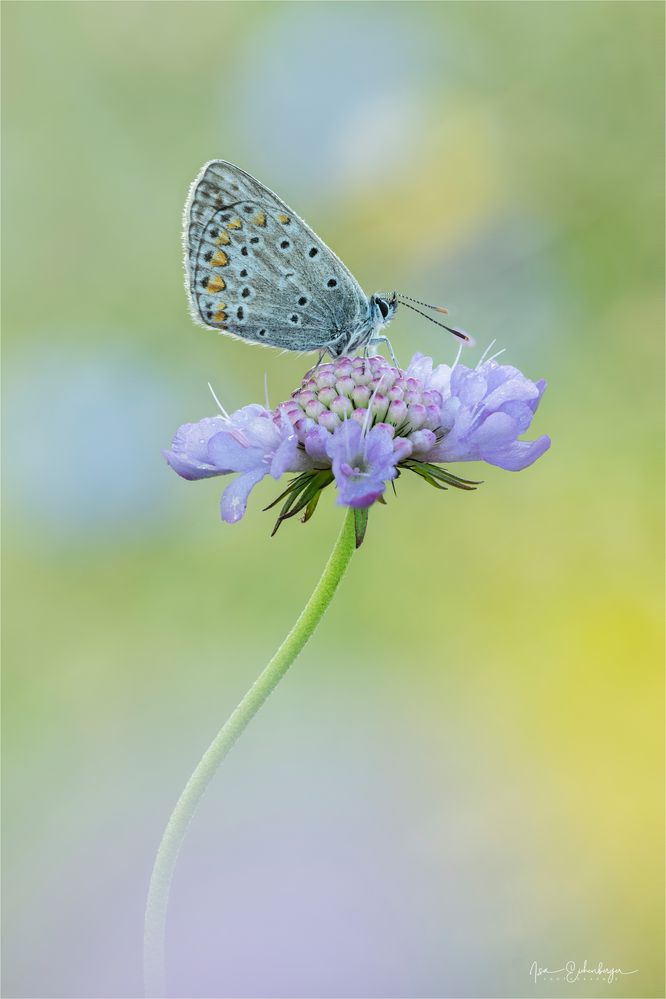
[[[288,205],[225,160],[206,163],[190,187],[183,245],[193,319],[250,343],[333,358],[386,343],[393,356],[383,331],[398,305],[427,319],[415,305],[447,311],[395,291],[368,297]]]

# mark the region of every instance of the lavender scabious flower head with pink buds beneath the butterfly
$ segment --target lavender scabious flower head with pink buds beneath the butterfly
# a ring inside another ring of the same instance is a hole
[[[222,496],[222,517],[235,523],[252,488],[266,475],[298,473],[275,529],[303,512],[308,520],[331,483],[337,502],[357,511],[360,538],[367,511],[383,502],[389,482],[412,471],[440,489],[473,489],[442,462],[485,461],[509,471],[531,465],[550,438],[519,440],[530,426],[545,381],[485,361],[433,366],[415,354],[406,370],[384,357],[342,357],[305,375],[290,399],[270,411],[250,405],[227,416],[186,423],[164,455],[185,479],[238,472]]]

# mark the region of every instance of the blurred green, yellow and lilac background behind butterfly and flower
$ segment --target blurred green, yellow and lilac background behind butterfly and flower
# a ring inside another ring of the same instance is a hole
[[[309,365],[189,319],[222,157],[546,377],[553,446],[373,511],[191,827],[173,995],[663,996],[662,5],[2,6],[4,994],[140,993],[164,822],[342,518],[230,527],[160,455]],[[635,973],[530,976],[584,960]]]

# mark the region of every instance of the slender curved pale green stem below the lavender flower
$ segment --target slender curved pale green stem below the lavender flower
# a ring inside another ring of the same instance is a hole
[[[344,524],[317,583],[291,629],[263,673],[255,680],[238,707],[222,726],[202,756],[171,813],[157,851],[146,902],[144,932],[144,976],[146,996],[166,995],[164,941],[171,879],[194,813],[222,760],[241,732],[277,686],[324,616],[355,549],[354,511]]]

